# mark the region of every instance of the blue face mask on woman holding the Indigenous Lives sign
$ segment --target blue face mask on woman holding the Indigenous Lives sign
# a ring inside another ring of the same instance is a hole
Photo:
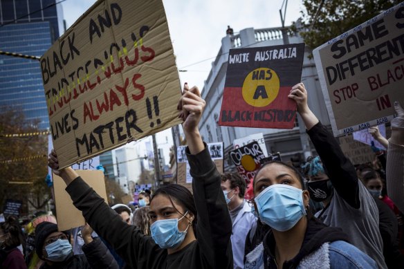
[[[156,221],[150,226],[152,238],[160,248],[177,248],[183,243],[190,225],[188,225],[185,231],[180,232],[178,230],[178,221],[181,221],[187,213],[185,212],[180,219],[163,219]]]

